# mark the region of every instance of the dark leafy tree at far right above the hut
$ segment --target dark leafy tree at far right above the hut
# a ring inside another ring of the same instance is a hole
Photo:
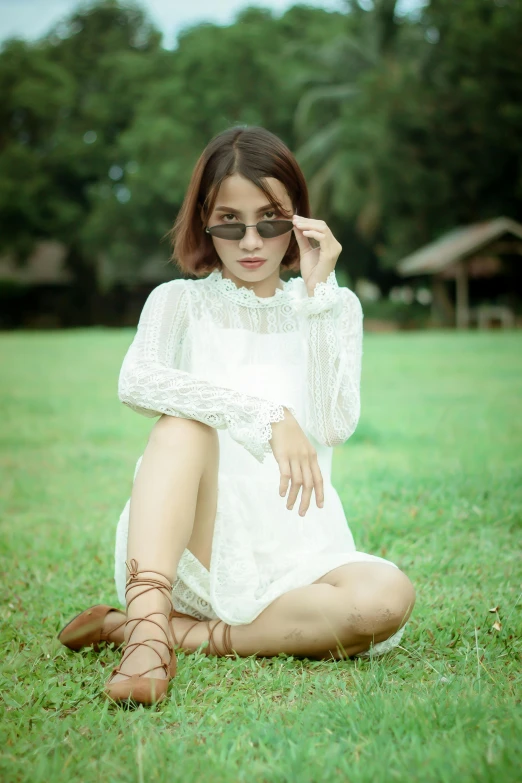
[[[422,57],[390,104],[383,262],[456,225],[518,217],[522,6],[432,0]]]

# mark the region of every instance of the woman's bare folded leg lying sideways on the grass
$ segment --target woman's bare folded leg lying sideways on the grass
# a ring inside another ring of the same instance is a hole
[[[343,658],[392,636],[405,624],[414,603],[413,585],[398,568],[386,563],[349,563],[280,596],[252,623],[232,626],[231,644],[240,656],[285,652]],[[175,618],[176,637],[193,622]],[[214,637],[220,649],[223,627],[216,629]],[[206,623],[198,623],[187,634],[183,648],[196,650],[207,639]]]

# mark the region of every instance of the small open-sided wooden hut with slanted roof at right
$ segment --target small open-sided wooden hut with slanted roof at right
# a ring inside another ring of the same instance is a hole
[[[473,320],[478,326],[484,326],[488,318],[500,320],[504,326],[513,326],[514,305],[489,302],[476,308],[470,306],[470,281],[506,274],[509,277],[513,258],[520,255],[522,225],[499,217],[444,234],[403,258],[397,265],[397,272],[402,277],[431,276],[435,308],[446,322],[454,323],[458,329],[469,328]],[[517,258],[516,266],[522,270],[522,260]],[[520,273],[518,279],[522,279]],[[454,297],[448,280],[455,282]],[[507,291],[507,294],[514,302],[522,291]]]

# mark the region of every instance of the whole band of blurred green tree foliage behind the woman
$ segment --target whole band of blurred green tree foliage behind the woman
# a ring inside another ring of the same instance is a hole
[[[518,217],[520,29],[516,0],[346,0],[247,8],[167,50],[138,5],[82,5],[0,51],[0,252],[58,239],[80,293],[132,281],[167,261],[205,144],[246,123],[294,149],[352,279],[384,279],[457,224]]]

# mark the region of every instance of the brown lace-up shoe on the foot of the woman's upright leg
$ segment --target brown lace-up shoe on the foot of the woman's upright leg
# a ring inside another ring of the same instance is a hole
[[[127,596],[127,593],[131,589],[135,589],[136,587],[141,587],[141,586],[145,588],[140,592],[135,592],[132,598],[130,598],[127,601],[127,613],[128,613],[129,606],[132,604],[132,602],[139,596],[145,595],[145,593],[148,593],[150,590],[164,591],[164,595],[168,598],[172,609],[172,584],[164,574],[160,574],[159,571],[152,571],[152,569],[147,569],[148,573],[158,574],[158,576],[161,576],[163,577],[163,579],[166,579],[167,584],[149,576],[140,577],[140,573],[144,573],[144,572],[138,571],[137,560],[131,560],[130,565],[128,563],[126,565],[127,568],[129,569],[130,576],[127,580],[127,585],[125,588],[125,596]],[[120,665],[116,669],[113,669],[111,676],[109,677],[109,680],[105,684],[105,695],[109,699],[112,699],[115,702],[132,701],[137,704],[146,704],[146,705],[156,704],[157,702],[165,698],[165,696],[167,695],[169,682],[173,677],[176,676],[176,667],[177,667],[176,653],[174,652],[174,648],[172,647],[170,643],[170,639],[166,634],[165,630],[161,627],[161,625],[158,622],[156,622],[156,620],[151,619],[151,617],[155,614],[163,615],[163,612],[160,611],[150,612],[145,617],[134,617],[126,621],[127,623],[134,623],[134,626],[129,634],[127,643],[125,644],[123,657],[120,661]],[[163,616],[166,618],[168,622],[169,615],[163,615]],[[145,641],[143,642],[131,642],[132,634],[134,633],[138,625],[145,621],[156,625],[160,629],[161,633],[165,636],[166,641],[164,641],[163,639],[145,639]],[[168,653],[169,656],[169,660],[167,663],[163,660],[160,653],[154,647],[148,644],[148,642],[152,642],[152,641],[161,642],[161,644],[165,645],[166,653]],[[140,672],[139,674],[130,675],[130,674],[125,674],[125,672],[122,672],[121,666],[123,665],[123,663],[127,660],[127,658],[130,655],[132,655],[134,650],[137,650],[138,647],[142,647],[142,646],[148,647],[150,650],[154,650],[154,652],[156,653],[156,655],[160,660],[157,666],[152,666],[150,669],[147,669],[144,672]],[[164,679],[160,679],[158,677],[146,676],[151,672],[155,671],[156,669],[163,669],[163,671],[165,672]],[[114,677],[115,674],[121,674],[127,679],[121,680],[120,682],[111,683],[111,679]]]

